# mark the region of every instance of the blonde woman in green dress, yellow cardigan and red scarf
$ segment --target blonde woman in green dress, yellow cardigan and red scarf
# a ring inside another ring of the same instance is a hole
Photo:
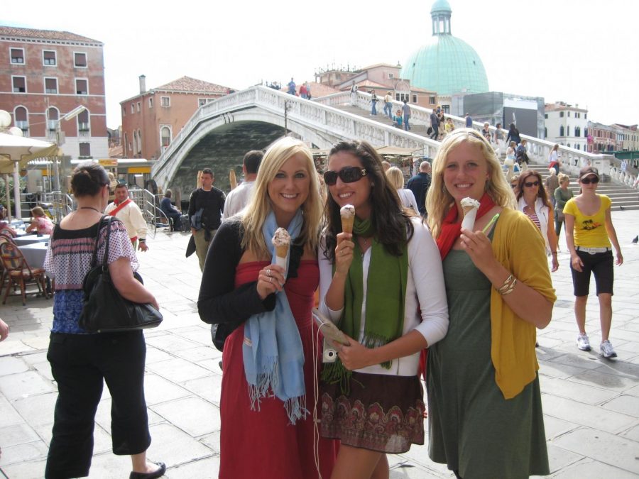
[[[428,224],[443,259],[450,326],[428,351],[430,458],[457,478],[546,475],[535,335],[556,297],[544,241],[516,210],[481,133],[448,136],[432,170]],[[472,230],[461,229],[466,197],[480,203]]]

